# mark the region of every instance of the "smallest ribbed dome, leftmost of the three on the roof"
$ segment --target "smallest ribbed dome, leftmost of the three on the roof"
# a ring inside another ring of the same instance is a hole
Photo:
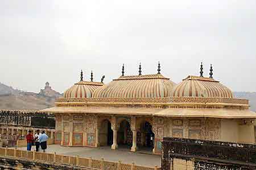
[[[101,82],[80,81],[64,92],[64,98],[89,98],[94,90],[102,86]]]

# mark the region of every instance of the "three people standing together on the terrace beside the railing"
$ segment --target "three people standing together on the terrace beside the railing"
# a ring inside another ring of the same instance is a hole
[[[47,139],[49,137],[46,135],[46,132],[43,130],[40,133],[40,130],[36,130],[35,136],[33,136],[32,131],[29,130],[26,136],[27,139],[27,151],[31,151],[32,146],[36,147],[36,152],[39,152],[40,148],[43,152],[46,152],[47,149]]]

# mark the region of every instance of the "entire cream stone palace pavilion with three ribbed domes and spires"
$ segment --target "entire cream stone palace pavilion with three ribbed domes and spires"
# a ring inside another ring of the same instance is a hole
[[[210,76],[188,76],[179,84],[158,73],[125,76],[108,84],[81,81],[42,110],[56,117],[55,143],[62,146],[129,147],[160,154],[163,137],[255,144],[247,99]]]

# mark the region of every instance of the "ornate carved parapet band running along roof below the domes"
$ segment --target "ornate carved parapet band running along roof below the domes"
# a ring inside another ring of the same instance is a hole
[[[59,98],[56,106],[142,106],[142,107],[216,107],[247,109],[249,101],[225,97],[163,97],[163,98]]]

